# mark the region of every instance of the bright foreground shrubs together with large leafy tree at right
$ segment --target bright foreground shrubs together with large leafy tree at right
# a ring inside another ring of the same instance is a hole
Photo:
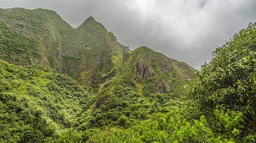
[[[74,142],[255,142],[255,39],[256,23],[217,48],[185,86],[183,101],[169,100],[164,112],[140,122],[121,115],[117,126],[67,134]]]

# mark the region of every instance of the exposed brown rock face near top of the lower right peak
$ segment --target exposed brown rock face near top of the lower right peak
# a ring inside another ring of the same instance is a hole
[[[139,77],[147,78],[147,77],[156,75],[156,73],[142,58],[138,60],[136,70]]]

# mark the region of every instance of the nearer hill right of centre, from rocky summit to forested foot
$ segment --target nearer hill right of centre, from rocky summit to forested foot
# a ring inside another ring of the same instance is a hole
[[[173,99],[182,95],[184,84],[195,69],[142,46],[124,53],[110,71],[115,76],[101,84],[88,101],[80,130],[119,124],[130,127],[153,113],[167,112]],[[127,123],[120,123],[120,120]]]

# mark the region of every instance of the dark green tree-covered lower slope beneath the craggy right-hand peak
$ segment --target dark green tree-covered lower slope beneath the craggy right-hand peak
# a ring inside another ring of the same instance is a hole
[[[87,103],[90,108],[84,109],[78,129],[108,125],[128,128],[150,118],[153,113],[167,112],[169,106],[178,105],[178,101],[173,99],[174,96],[169,94],[142,95],[136,89],[133,76],[116,76],[105,82],[100,91],[90,98]]]

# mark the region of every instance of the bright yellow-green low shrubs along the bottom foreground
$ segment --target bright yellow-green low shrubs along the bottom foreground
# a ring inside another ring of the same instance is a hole
[[[209,128],[209,124],[205,116],[201,116],[199,120],[189,121],[186,119],[186,108],[173,107],[168,113],[157,113],[150,119],[141,121],[128,129],[123,128],[107,128],[102,129],[100,133],[90,137],[88,142],[254,142],[254,137],[248,135],[244,138],[237,138],[240,135],[239,121],[243,120],[240,113],[225,114],[216,111],[218,121],[220,121],[227,129],[227,133],[221,135],[214,133]],[[236,121],[228,121],[227,119],[237,119]],[[231,130],[228,131],[228,130]]]

